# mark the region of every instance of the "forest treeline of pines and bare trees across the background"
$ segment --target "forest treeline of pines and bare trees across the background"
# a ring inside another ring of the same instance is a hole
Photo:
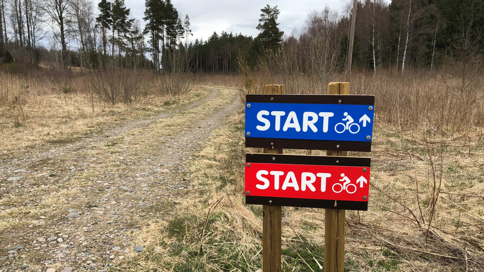
[[[0,0],[0,61],[47,61],[63,69],[109,62],[161,71],[183,62],[182,70],[229,74],[243,56],[250,65],[290,63],[284,69],[324,78],[345,69],[351,5],[340,14],[328,7],[312,11],[289,35],[278,27],[277,6],[266,5],[256,37],[221,31],[190,42],[190,18],[171,0],[146,0],[143,18],[133,18],[124,0]],[[404,72],[478,56],[483,13],[482,0],[359,0],[353,66]]]

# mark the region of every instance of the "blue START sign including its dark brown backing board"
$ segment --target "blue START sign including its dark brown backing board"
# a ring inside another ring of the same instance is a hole
[[[320,149],[329,150],[369,151],[371,147],[375,111],[372,95],[251,96],[245,104],[246,146],[315,149],[314,144],[319,142]],[[265,102],[269,96],[272,99]],[[262,139],[272,139],[272,145]],[[274,141],[278,144],[274,145]]]

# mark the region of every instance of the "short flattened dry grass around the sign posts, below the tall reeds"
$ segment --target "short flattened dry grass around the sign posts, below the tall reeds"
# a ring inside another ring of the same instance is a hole
[[[260,268],[262,211],[243,204],[242,116],[235,116],[200,153],[193,166],[195,195],[177,207],[179,216],[146,230],[150,248],[126,260],[133,268],[129,271]],[[348,271],[483,270],[484,149],[462,138],[427,134],[420,140],[377,129],[369,211],[347,212]],[[324,210],[284,208],[284,271],[321,271],[323,245]]]

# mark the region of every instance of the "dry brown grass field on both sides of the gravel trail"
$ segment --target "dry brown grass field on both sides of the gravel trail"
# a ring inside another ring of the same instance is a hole
[[[157,92],[156,79],[144,76],[133,102],[113,105],[92,94],[89,75],[0,74],[0,155],[66,145],[209,95],[197,86],[179,99]],[[462,78],[444,70],[355,72],[350,91],[376,95],[376,121],[372,152],[348,152],[372,158],[372,178],[369,211],[346,213],[345,271],[484,271],[483,78]],[[139,223],[133,237],[144,237],[143,252],[127,253],[109,271],[261,271],[262,211],[243,197],[244,154],[261,150],[244,147],[244,94],[260,93],[265,84],[284,84],[286,93],[326,93],[328,82],[260,71],[198,80],[238,88],[230,99],[241,97],[241,106],[193,155],[193,188],[175,204],[164,202],[164,220]],[[331,79],[342,80],[340,74]],[[228,103],[227,97],[217,101]],[[195,120],[206,113],[190,114]],[[174,130],[187,125],[177,122]],[[2,209],[12,202],[9,193],[0,199]],[[9,226],[0,222],[0,231]],[[323,271],[324,210],[284,207],[282,247],[283,271]]]

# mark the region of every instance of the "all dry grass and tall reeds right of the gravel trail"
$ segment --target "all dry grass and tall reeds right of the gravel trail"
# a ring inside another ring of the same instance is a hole
[[[372,157],[372,178],[369,211],[347,212],[348,271],[484,271],[481,79],[463,90],[444,72],[353,78],[353,93],[377,96],[377,120],[373,151],[349,152]],[[269,83],[326,92],[304,75],[265,76],[242,74],[242,97]],[[243,126],[239,112],[214,135],[193,165],[196,195],[177,207],[179,216],[146,230],[150,248],[126,260],[129,271],[261,268],[261,207],[243,197],[244,154],[260,150],[244,148]],[[321,271],[324,210],[284,208],[282,254],[283,271]]]

